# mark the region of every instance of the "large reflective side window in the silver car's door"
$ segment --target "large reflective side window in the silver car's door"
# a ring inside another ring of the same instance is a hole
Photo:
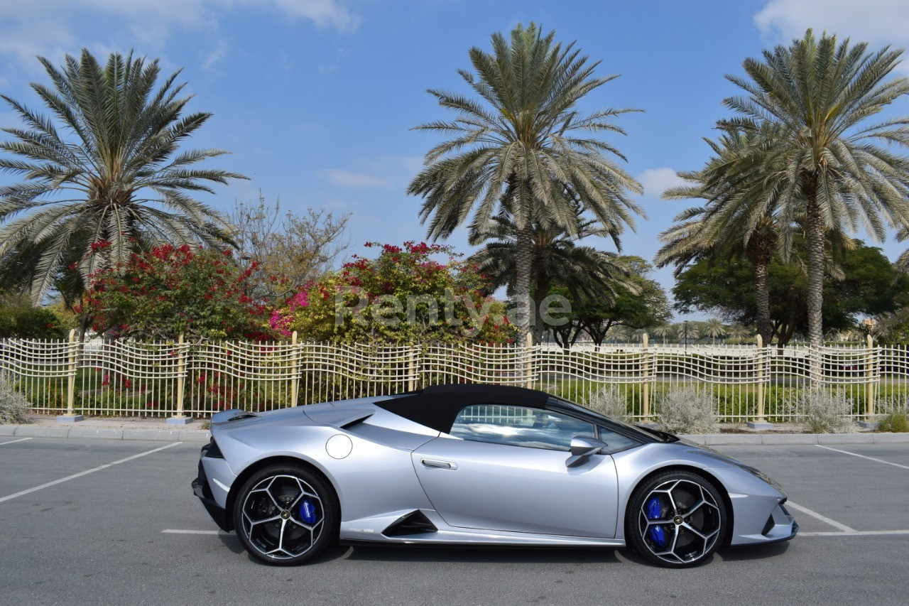
[[[474,404],[458,413],[451,435],[474,442],[567,451],[575,436],[593,438],[594,426],[550,410]]]

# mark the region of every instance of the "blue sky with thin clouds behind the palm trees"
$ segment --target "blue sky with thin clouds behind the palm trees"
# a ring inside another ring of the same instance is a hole
[[[602,62],[600,74],[621,74],[587,109],[644,109],[619,118],[628,134],[610,142],[646,190],[649,218],[624,235],[624,252],[648,259],[684,207],[660,194],[676,170],[703,164],[701,137],[734,94],[723,76],[741,73],[744,57],[808,26],[909,45],[902,0],[32,0],[0,11],[0,90],[37,106],[27,83],[46,78],[35,56],[59,64],[83,46],[102,55],[133,48],[166,72],[183,67],[190,107],[215,113],[190,146],[230,150],[211,166],[251,177],[207,201],[227,210],[261,190],[287,208],[353,213],[359,252],[366,241],[425,237],[420,200],[405,187],[438,139],[410,128],[447,117],[425,89],[465,91],[455,70],[469,67],[468,49],[488,49],[492,33],[530,21],[576,40]],[[909,113],[909,101],[894,111]],[[0,126],[17,126],[5,107]],[[464,233],[449,242],[470,251]],[[891,258],[904,250],[893,238],[882,246]],[[656,278],[673,285],[668,269]]]

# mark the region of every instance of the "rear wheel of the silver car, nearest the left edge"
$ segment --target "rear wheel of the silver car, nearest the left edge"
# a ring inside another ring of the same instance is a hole
[[[340,506],[319,474],[271,465],[246,480],[234,501],[234,528],[256,560],[275,566],[310,561],[338,535]]]

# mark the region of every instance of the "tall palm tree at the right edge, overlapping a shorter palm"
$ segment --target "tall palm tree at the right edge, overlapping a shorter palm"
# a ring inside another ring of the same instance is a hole
[[[785,218],[784,247],[792,241],[792,220],[800,212],[808,248],[808,336],[823,342],[824,233],[860,224],[878,240],[884,225],[909,227],[909,159],[881,144],[909,145],[909,118],[868,125],[867,118],[909,93],[909,79],[887,79],[901,52],[868,45],[837,45],[808,30],[793,44],[748,58],[747,78],[726,76],[744,96],[724,100],[738,115],[718,123],[730,133],[759,137],[724,171],[753,175],[763,170],[764,196]]]

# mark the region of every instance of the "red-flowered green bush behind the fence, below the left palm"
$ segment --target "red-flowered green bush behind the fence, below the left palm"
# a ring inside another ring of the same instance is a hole
[[[95,273],[85,304],[93,328],[113,338],[266,340],[267,308],[246,294],[257,269],[230,251],[155,247]]]

